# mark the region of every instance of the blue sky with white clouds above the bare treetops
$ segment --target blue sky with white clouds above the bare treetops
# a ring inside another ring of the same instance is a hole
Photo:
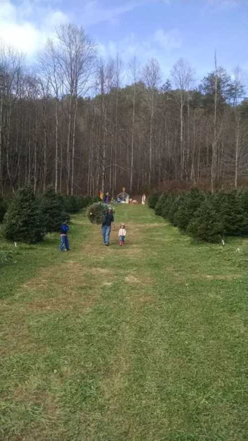
[[[0,0],[0,37],[32,60],[55,26],[72,21],[103,57],[156,57],[164,77],[183,57],[196,81],[218,64],[248,74],[248,0]]]

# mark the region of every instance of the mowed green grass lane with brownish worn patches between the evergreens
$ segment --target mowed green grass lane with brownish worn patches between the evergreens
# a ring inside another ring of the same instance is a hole
[[[119,221],[125,247],[77,215],[71,252],[50,235],[0,268],[0,440],[247,440],[245,239]]]

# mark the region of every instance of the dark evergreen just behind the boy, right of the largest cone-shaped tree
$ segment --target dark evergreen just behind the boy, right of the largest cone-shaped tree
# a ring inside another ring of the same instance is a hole
[[[63,221],[63,198],[50,187],[41,199],[41,213],[47,232],[59,231]]]

